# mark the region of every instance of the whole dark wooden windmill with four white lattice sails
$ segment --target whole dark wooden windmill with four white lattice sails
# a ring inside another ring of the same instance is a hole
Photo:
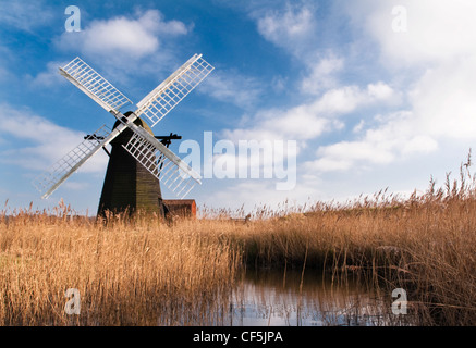
[[[106,78],[76,57],[60,67],[60,73],[73,85],[115,117],[113,128],[103,125],[84,140],[33,184],[48,198],[64,181],[101,149],[109,154],[98,214],[105,210],[144,209],[163,214],[160,184],[183,199],[200,175],[168,147],[176,135],[155,137],[150,127],[159,123],[211,71],[202,54],[194,54],[172,75],[150,91],[134,112],[119,110],[132,103]],[[144,122],[148,121],[148,124]],[[106,146],[111,145],[111,152]],[[160,183],[160,184],[159,184]]]

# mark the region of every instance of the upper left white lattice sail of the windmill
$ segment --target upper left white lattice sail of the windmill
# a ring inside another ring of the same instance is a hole
[[[60,73],[108,112],[117,114],[123,105],[132,103],[127,97],[78,57],[60,67]]]

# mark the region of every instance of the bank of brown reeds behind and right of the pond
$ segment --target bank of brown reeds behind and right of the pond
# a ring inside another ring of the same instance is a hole
[[[255,221],[210,220],[209,231],[241,246],[248,266],[317,268],[402,288],[418,325],[476,324],[476,185],[468,167],[442,187],[402,198],[382,190],[291,213],[259,209]],[[266,217],[266,219],[264,219]],[[224,227],[227,225],[227,227]],[[390,307],[389,307],[390,310]]]

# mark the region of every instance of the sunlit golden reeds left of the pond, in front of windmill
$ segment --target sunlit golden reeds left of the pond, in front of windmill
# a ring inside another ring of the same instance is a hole
[[[186,225],[157,220],[19,213],[0,222],[3,325],[190,325],[213,323],[239,259]],[[64,311],[65,290],[80,315]]]

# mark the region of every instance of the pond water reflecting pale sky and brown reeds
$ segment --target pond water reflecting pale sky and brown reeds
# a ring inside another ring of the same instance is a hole
[[[224,325],[402,325],[387,301],[357,282],[337,285],[329,275],[248,271],[232,293]]]

